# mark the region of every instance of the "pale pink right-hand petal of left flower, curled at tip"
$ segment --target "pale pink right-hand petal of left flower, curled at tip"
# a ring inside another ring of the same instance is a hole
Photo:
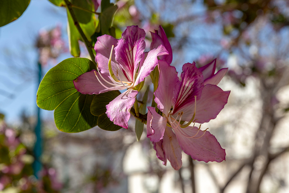
[[[144,81],[144,78],[149,76],[151,71],[158,65],[158,56],[168,54],[166,48],[160,45],[157,49],[153,49],[147,53],[147,57],[144,59],[144,63],[140,66],[138,76],[136,78],[136,84]]]

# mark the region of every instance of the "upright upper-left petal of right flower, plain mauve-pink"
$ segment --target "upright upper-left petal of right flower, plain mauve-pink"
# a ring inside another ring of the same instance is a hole
[[[166,61],[159,60],[160,77],[158,89],[155,91],[155,102],[158,108],[165,114],[171,111],[172,100],[174,97],[174,87],[180,84],[176,68],[170,66]]]

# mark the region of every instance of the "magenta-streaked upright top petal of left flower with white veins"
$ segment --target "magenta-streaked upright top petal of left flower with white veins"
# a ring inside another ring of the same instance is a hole
[[[122,38],[115,47],[116,61],[128,73],[128,78],[131,82],[145,49],[144,37],[145,32],[143,29],[135,25],[127,26]]]

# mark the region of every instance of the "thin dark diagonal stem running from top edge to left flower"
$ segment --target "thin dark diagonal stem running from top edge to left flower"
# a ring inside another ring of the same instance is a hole
[[[80,25],[79,25],[79,23],[78,23],[78,21],[77,21],[77,18],[76,18],[75,14],[74,14],[74,11],[73,11],[73,9],[72,9],[72,4],[71,4],[71,2],[68,1],[68,0],[64,0],[64,2],[65,2],[65,4],[66,4],[66,7],[67,7],[69,13],[71,14],[71,17],[72,17],[72,19],[73,19],[74,25],[76,26],[76,28],[77,28],[77,30],[78,30],[78,32],[79,32],[82,40],[83,40],[84,43],[85,43],[85,46],[86,46],[86,48],[87,48],[87,50],[88,50],[88,53],[89,53],[89,55],[90,55],[90,58],[91,58],[92,62],[95,64],[95,66],[96,66],[97,64],[96,64],[96,62],[95,62],[95,56],[94,56],[94,54],[93,54],[93,52],[92,52],[93,47],[92,47],[92,45],[89,43],[89,41],[88,41],[88,39],[86,38],[86,36],[84,35],[84,33],[83,33],[83,31],[82,31],[82,29],[81,29],[81,27],[80,27]]]

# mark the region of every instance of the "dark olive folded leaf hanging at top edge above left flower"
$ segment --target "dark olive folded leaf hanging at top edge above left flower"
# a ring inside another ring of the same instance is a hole
[[[110,34],[110,27],[112,24],[112,19],[114,16],[114,13],[117,10],[117,5],[114,5],[113,3],[110,3],[110,0],[102,0],[101,1],[101,13],[99,14],[99,25],[100,25],[100,32],[102,35],[108,34],[108,35],[115,35]]]

